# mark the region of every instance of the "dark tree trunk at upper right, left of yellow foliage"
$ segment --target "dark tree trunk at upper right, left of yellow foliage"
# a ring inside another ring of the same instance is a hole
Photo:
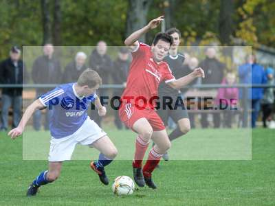
[[[219,36],[223,45],[230,45],[232,36],[233,0],[221,0],[219,13]]]

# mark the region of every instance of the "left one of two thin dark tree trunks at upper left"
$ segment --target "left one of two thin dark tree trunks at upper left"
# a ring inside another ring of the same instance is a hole
[[[50,1],[41,0],[42,25],[43,25],[43,45],[52,42],[51,24],[50,24]]]

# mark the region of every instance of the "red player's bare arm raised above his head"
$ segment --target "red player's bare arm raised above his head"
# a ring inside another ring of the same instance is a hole
[[[142,29],[133,32],[128,38],[125,39],[124,44],[128,47],[136,46],[137,39],[140,38],[143,34],[146,34],[149,30],[153,30],[164,20],[164,16],[159,16],[157,19],[151,20],[148,25],[144,26]]]

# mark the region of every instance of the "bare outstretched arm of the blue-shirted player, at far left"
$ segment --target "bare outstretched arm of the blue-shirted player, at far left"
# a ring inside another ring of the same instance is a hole
[[[32,117],[32,114],[34,113],[34,111],[36,111],[36,109],[41,109],[44,107],[45,106],[43,106],[43,104],[40,102],[40,100],[35,100],[34,102],[32,102],[32,104],[30,104],[30,106],[28,106],[25,113],[23,114],[23,117],[19,123],[19,126],[17,126],[17,128],[10,130],[10,132],[8,133],[10,138],[15,139],[19,135],[21,135],[23,133],[25,125],[29,121],[30,117]]]

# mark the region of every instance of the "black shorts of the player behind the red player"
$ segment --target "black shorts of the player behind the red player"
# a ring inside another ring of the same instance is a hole
[[[179,101],[179,98],[181,101]],[[160,97],[160,99],[162,100],[162,97]],[[179,94],[178,96],[171,97],[171,100],[173,100],[171,104],[172,108],[168,106],[164,108],[164,104],[160,103],[160,108],[157,109],[157,114],[162,119],[165,126],[168,125],[168,117],[171,117],[175,123],[177,123],[179,119],[189,118],[181,95]]]

